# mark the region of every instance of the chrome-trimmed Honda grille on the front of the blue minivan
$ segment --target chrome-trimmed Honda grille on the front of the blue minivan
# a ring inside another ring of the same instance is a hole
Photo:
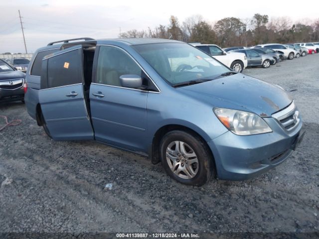
[[[291,103],[287,108],[272,115],[287,130],[292,131],[300,122],[299,111],[295,103]]]

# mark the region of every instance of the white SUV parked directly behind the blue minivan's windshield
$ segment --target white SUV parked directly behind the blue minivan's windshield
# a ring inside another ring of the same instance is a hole
[[[247,57],[245,53],[226,52],[214,44],[190,44],[211,55],[233,71],[242,72],[247,67]]]

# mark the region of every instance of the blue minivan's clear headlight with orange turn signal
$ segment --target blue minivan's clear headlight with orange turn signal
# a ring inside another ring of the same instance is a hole
[[[214,108],[217,118],[235,134],[251,135],[272,132],[269,125],[258,115],[246,111]]]

